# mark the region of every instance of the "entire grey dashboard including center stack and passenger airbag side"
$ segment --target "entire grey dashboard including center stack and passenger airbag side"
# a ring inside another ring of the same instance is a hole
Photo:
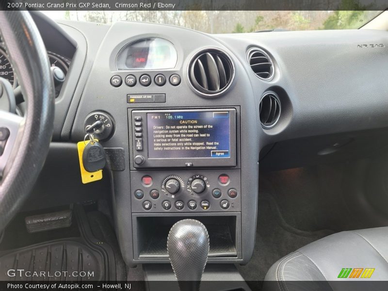
[[[127,265],[168,262],[168,230],[183,218],[207,226],[209,263],[247,263],[259,169],[388,143],[371,142],[388,125],[385,31],[206,34],[33,17],[49,57],[68,67],[53,144],[82,141],[85,126],[104,122],[96,137]]]

